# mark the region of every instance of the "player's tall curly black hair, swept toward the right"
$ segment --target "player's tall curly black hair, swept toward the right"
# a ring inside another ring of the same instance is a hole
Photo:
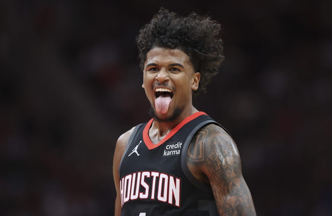
[[[195,71],[201,73],[194,95],[206,93],[207,84],[224,60],[222,40],[218,37],[220,29],[219,23],[195,12],[182,17],[161,8],[136,37],[140,67],[144,69],[146,53],[153,47],[181,49],[190,57]]]

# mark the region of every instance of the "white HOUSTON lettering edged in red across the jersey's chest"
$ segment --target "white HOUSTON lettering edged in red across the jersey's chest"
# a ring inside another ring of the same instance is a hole
[[[148,184],[145,181],[147,179],[150,179],[152,184]],[[180,207],[181,179],[156,171],[136,172],[120,180],[120,192],[121,206],[129,200],[157,199]]]

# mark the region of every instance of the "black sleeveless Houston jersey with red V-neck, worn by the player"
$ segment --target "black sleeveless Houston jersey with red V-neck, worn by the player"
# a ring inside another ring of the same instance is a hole
[[[211,187],[191,174],[186,157],[196,131],[219,124],[196,112],[153,144],[148,135],[152,121],[135,127],[120,162],[121,215],[218,215]]]

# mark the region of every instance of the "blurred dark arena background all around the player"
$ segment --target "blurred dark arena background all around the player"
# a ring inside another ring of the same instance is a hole
[[[149,119],[135,37],[163,6],[222,26],[194,106],[237,143],[258,215],[332,215],[332,2],[0,1],[0,215],[113,215],[117,138]]]

